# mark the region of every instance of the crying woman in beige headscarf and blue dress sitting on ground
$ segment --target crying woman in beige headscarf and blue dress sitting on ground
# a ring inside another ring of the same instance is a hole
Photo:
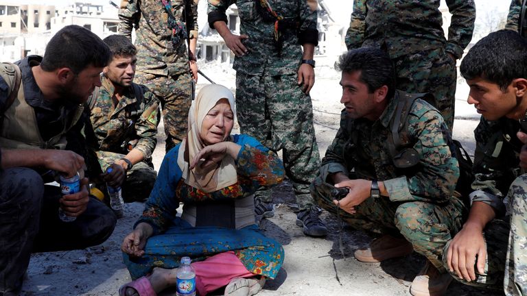
[[[119,295],[156,295],[176,285],[180,258],[196,270],[198,295],[254,295],[274,278],[283,248],[255,225],[253,193],[283,180],[283,164],[255,138],[231,135],[233,94],[202,88],[189,110],[187,138],[167,153],[134,230],[121,249],[133,282]],[[176,209],[183,202],[183,214]]]

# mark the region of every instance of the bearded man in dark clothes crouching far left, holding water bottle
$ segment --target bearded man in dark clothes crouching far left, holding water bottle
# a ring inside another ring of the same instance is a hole
[[[82,151],[69,151],[67,140],[82,138],[82,104],[101,85],[109,58],[99,37],[69,25],[43,58],[1,64],[0,295],[18,295],[32,252],[83,249],[113,232],[115,214],[89,197]],[[56,174],[80,174],[80,192],[45,186]],[[75,221],[61,221],[59,207]]]

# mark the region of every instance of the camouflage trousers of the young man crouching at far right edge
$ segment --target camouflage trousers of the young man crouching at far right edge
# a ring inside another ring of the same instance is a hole
[[[485,274],[467,282],[452,273],[459,282],[471,286],[502,290],[505,295],[527,295],[527,175],[521,175],[508,190],[506,219],[494,219],[485,227],[487,244]],[[445,246],[445,254],[449,244]],[[447,267],[447,262],[443,262]]]

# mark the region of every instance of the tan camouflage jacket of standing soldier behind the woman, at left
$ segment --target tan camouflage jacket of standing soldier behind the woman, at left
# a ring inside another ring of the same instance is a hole
[[[187,36],[198,38],[198,0],[170,1],[176,19],[183,21]],[[124,6],[124,7],[123,7]],[[119,34],[132,38],[135,26],[137,71],[172,76],[189,71],[189,54],[184,36],[178,45],[172,43],[168,14],[161,0],[124,0],[119,10]]]

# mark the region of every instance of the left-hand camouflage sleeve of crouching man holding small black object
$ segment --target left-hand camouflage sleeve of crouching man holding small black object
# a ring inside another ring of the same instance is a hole
[[[353,168],[348,168],[349,164],[344,159],[344,147],[348,142],[350,136],[346,129],[347,119],[344,114],[340,116],[340,128],[333,139],[333,142],[327,147],[326,154],[322,159],[322,167],[320,172],[325,172],[323,180],[326,180],[327,175],[332,173],[344,173],[348,175]]]

